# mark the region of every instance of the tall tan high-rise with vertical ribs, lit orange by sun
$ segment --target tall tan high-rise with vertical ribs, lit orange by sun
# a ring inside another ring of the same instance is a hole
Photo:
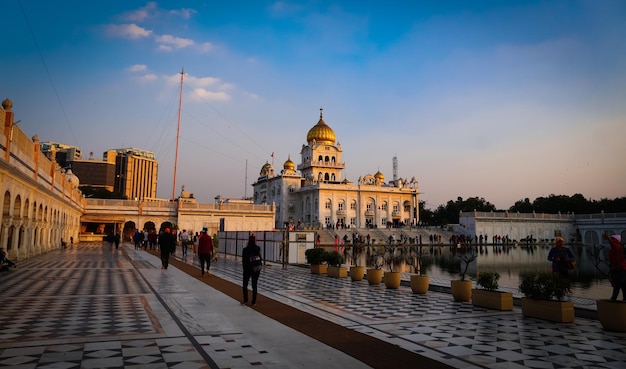
[[[128,199],[156,198],[159,164],[154,153],[137,148],[107,150],[105,161],[115,158],[114,191]]]

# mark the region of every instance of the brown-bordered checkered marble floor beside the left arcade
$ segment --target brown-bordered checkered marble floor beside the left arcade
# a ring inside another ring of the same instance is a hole
[[[209,368],[197,344],[161,327],[122,251],[73,245],[18,262],[0,296],[0,367]]]

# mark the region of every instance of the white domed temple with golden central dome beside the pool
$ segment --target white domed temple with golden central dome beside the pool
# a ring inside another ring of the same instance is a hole
[[[286,224],[306,227],[387,227],[416,225],[418,187],[413,177],[385,182],[385,176],[359,177],[356,183],[343,178],[346,164],[343,149],[335,132],[320,119],[307,134],[307,144],[300,150],[301,163],[291,157],[280,174],[272,164],[261,168],[254,188],[255,204],[276,206],[276,228]],[[394,176],[397,175],[394,167]]]

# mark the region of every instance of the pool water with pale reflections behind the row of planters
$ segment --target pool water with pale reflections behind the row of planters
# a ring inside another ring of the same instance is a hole
[[[419,247],[419,246],[418,246]],[[467,277],[476,280],[483,271],[500,273],[502,287],[517,288],[520,275],[526,272],[550,272],[548,252],[551,246],[472,246],[477,254],[467,271]],[[577,267],[570,271],[574,296],[603,299],[611,296],[611,285],[606,276],[594,265],[591,247],[568,246],[576,258]],[[457,256],[462,249],[455,246],[423,245],[422,270],[433,278],[455,279],[459,277],[461,260]],[[605,248],[604,251],[608,249]],[[604,255],[606,257],[606,254]],[[413,272],[405,265],[404,272]],[[608,270],[604,270],[608,272]]]

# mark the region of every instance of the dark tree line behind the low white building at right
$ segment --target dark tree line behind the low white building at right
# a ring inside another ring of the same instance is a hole
[[[532,202],[529,198],[518,200],[508,209],[497,209],[495,205],[482,197],[470,197],[463,200],[457,197],[456,201],[449,200],[439,205],[435,210],[426,209],[426,202],[419,202],[420,222],[424,225],[442,226],[458,224],[459,212],[504,212],[511,213],[547,213],[547,214],[595,214],[595,213],[622,213],[626,212],[626,197],[615,199],[588,200],[581,194],[572,196],[550,195],[537,197]]]

